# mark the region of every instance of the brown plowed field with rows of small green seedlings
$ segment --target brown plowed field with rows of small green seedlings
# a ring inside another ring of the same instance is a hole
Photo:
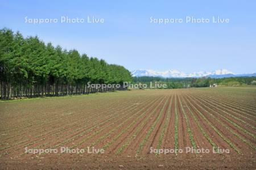
[[[256,168],[253,87],[2,101],[0,116],[2,169]]]

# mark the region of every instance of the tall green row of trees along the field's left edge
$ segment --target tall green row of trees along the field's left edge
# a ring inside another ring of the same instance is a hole
[[[109,91],[116,89],[86,84],[129,81],[131,74],[123,66],[45,44],[37,36],[24,38],[19,32],[0,29],[1,99]]]

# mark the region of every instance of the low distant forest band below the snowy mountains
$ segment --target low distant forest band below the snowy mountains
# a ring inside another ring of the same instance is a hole
[[[187,88],[187,87],[209,87],[217,84],[218,86],[243,86],[256,85],[256,77],[231,77],[231,78],[162,78],[154,76],[133,77],[134,83],[159,82],[166,83],[168,88]]]

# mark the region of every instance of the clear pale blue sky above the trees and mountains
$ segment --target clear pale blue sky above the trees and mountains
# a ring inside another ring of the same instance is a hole
[[[127,69],[256,73],[256,1],[7,1],[0,28]],[[79,18],[69,23],[69,19]],[[104,19],[104,22],[92,22]],[[213,23],[213,16],[221,18]],[[197,19],[189,22],[189,18]],[[42,19],[44,23],[32,23]],[[45,23],[47,19],[57,22]],[[84,20],[82,20],[84,19]],[[166,19],[169,23],[160,23]],[[182,22],[174,20],[182,19]],[[209,19],[209,22],[207,22]],[[224,21],[221,23],[220,21]],[[201,23],[200,23],[201,22]],[[204,22],[204,23],[203,23]]]

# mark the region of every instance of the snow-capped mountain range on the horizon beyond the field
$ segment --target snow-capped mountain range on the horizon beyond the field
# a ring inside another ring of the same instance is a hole
[[[178,70],[166,70],[166,71],[155,71],[155,70],[133,70],[131,71],[133,76],[160,76],[163,78],[186,78],[186,77],[203,77],[207,76],[210,78],[228,78],[236,76],[256,76],[256,73],[253,74],[234,74],[226,69],[218,69],[215,71],[198,71],[193,73],[183,73]]]

